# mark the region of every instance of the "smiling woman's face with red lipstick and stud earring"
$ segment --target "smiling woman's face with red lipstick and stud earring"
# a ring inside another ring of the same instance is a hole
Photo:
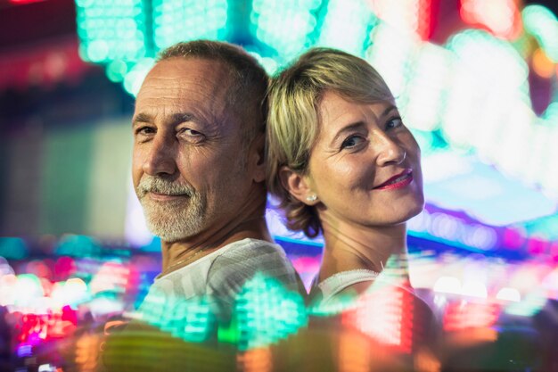
[[[322,218],[397,225],[422,210],[420,149],[393,103],[354,103],[327,91],[319,111],[308,183]]]

